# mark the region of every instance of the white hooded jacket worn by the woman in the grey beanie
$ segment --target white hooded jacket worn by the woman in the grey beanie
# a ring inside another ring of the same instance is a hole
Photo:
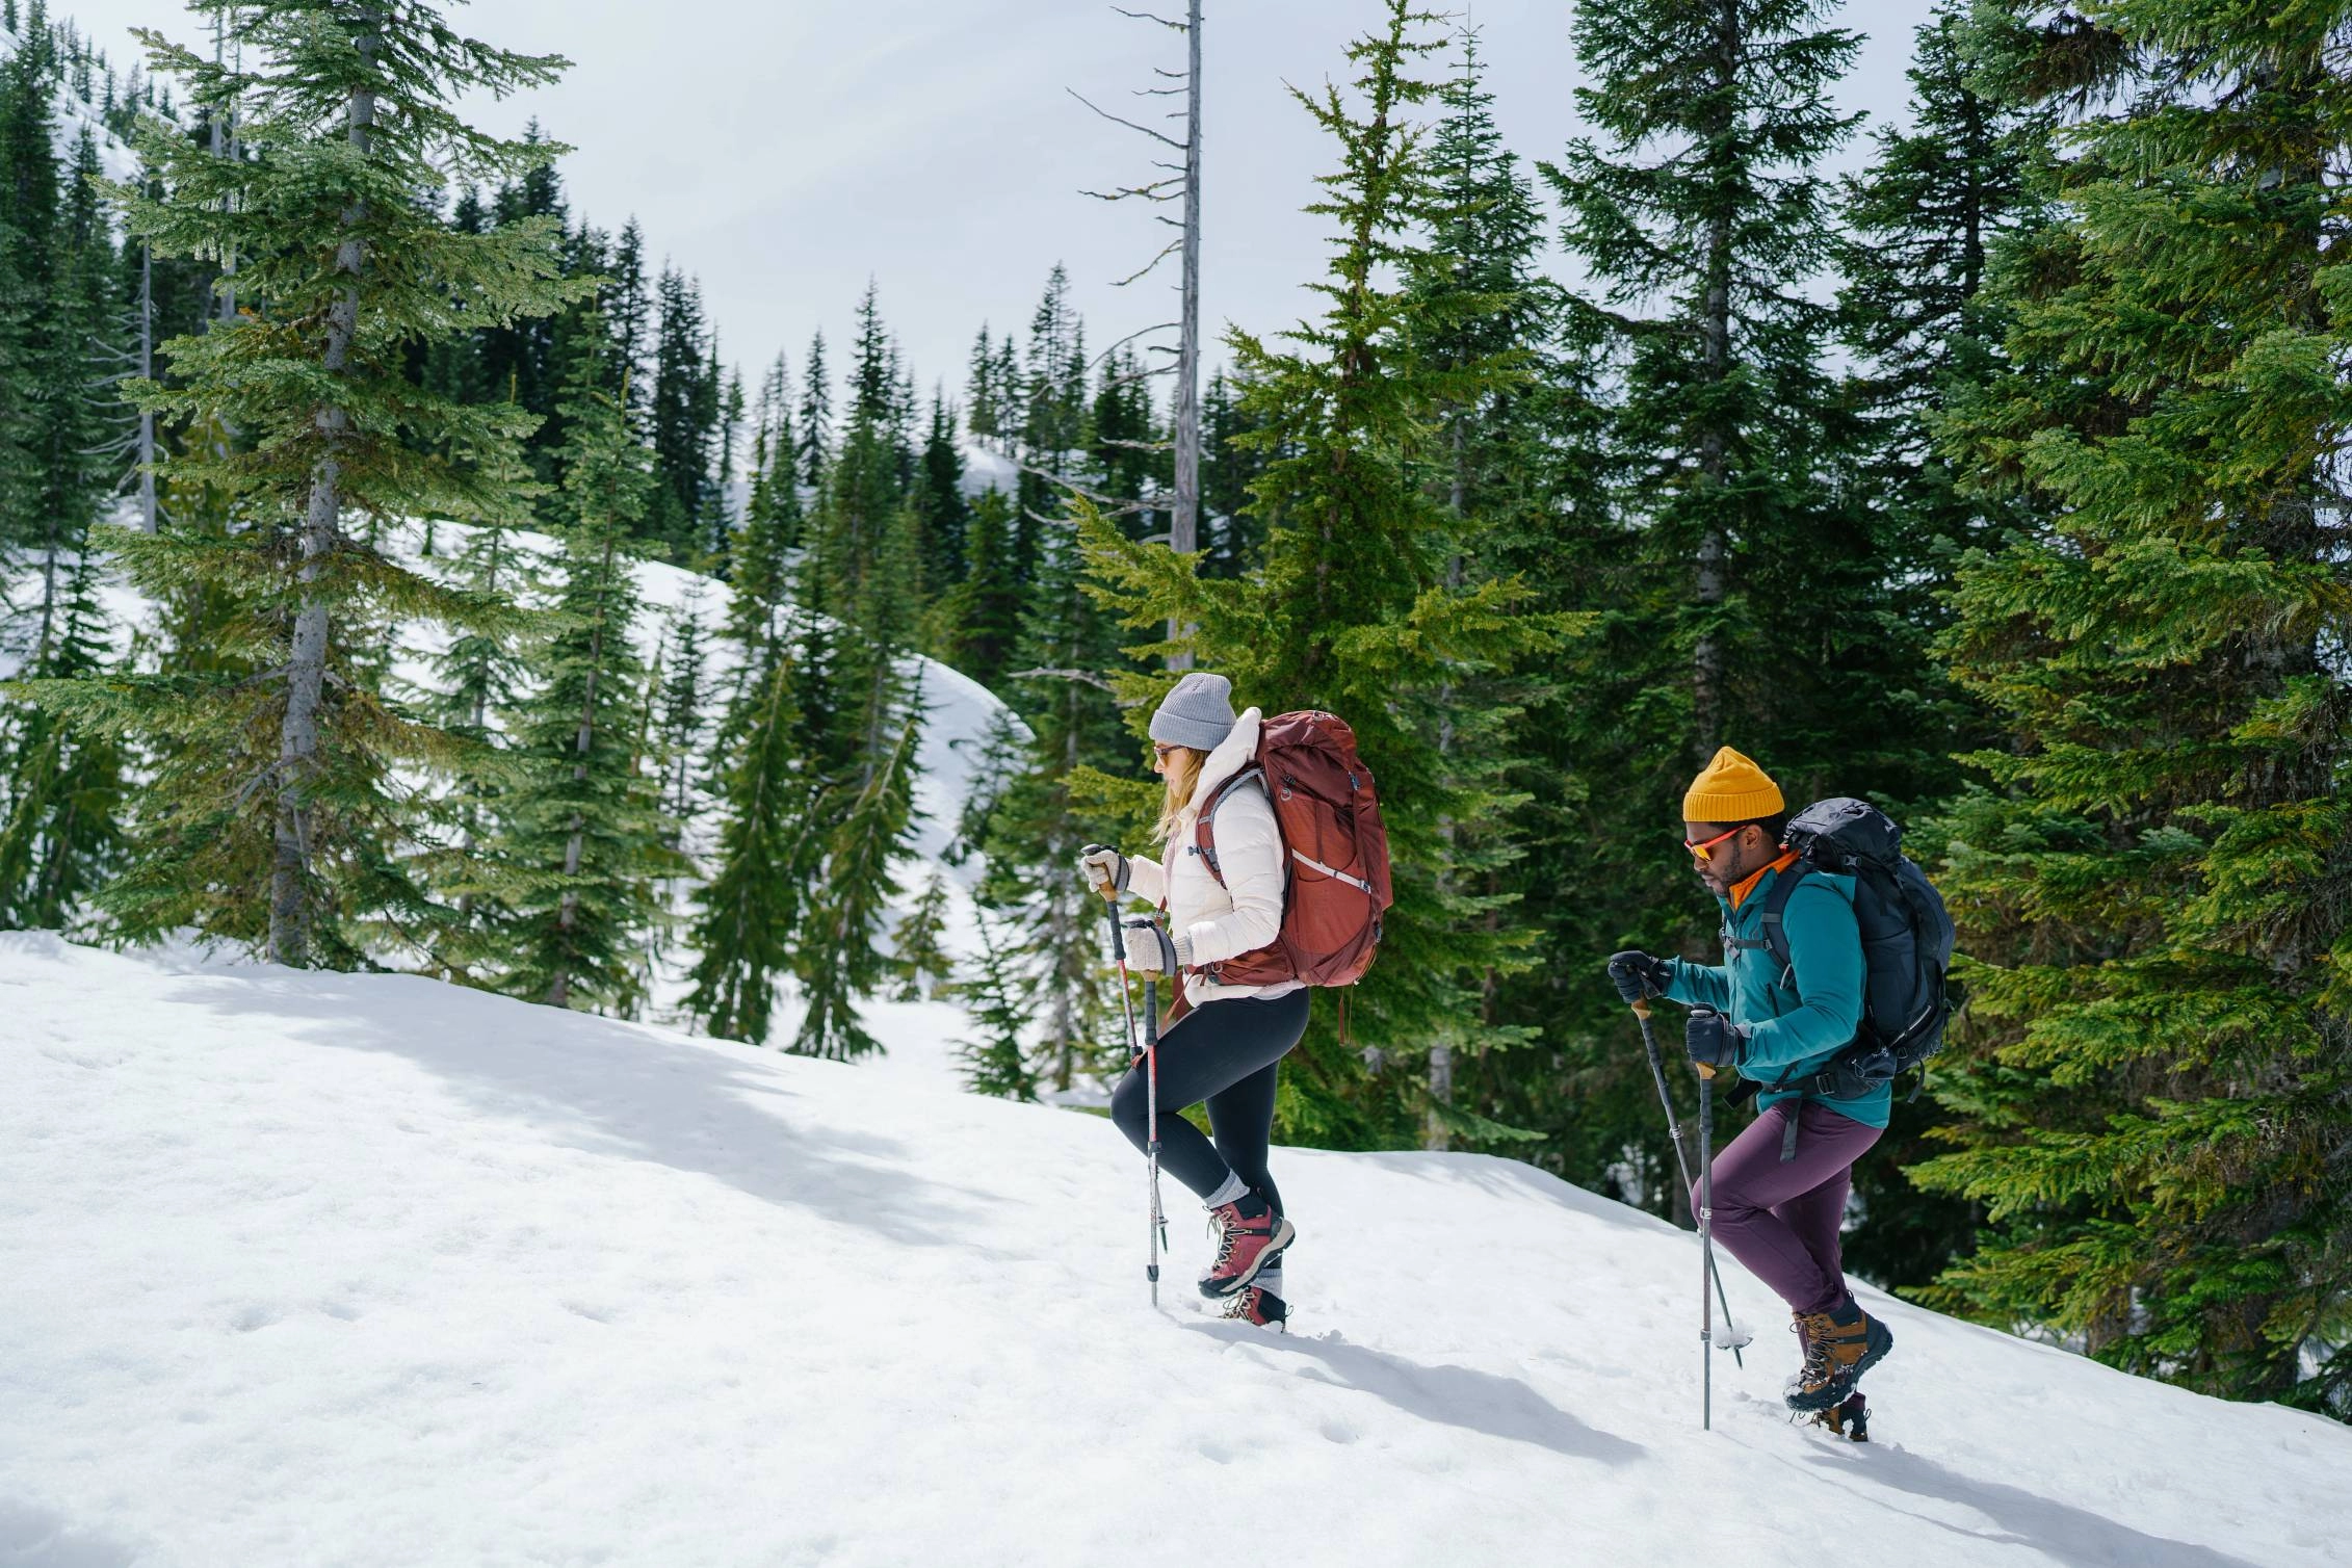
[[[1192,943],[1192,964],[1221,964],[1244,952],[1256,952],[1275,940],[1282,929],[1282,832],[1275,827],[1275,804],[1258,783],[1240,785],[1216,809],[1216,863],[1225,872],[1218,884],[1209,863],[1200,858],[1200,842],[1192,825],[1200,806],[1258,755],[1256,708],[1244,712],[1232,733],[1200,764],[1200,783],[1192,785],[1192,802],[1176,823],[1169,839],[1174,865],[1160,865],[1143,856],[1127,860],[1127,891],[1143,903],[1167,903],[1169,933]],[[1185,976],[1185,997],[1192,1006],[1204,1001],[1230,1001],[1235,997],[1284,997],[1298,990],[1298,980],[1279,985],[1218,985],[1207,973]]]

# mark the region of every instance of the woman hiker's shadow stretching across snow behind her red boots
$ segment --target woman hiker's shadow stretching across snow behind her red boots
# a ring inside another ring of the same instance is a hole
[[[1602,1465],[1625,1465],[1644,1453],[1639,1443],[1595,1432],[1517,1378],[1470,1366],[1423,1366],[1383,1349],[1350,1345],[1336,1333],[1270,1335],[1242,1324],[1185,1324],[1185,1328],[1247,1345],[1268,1356],[1289,1354],[1317,1361],[1319,1366],[1301,1368],[1298,1375],[1336,1389],[1371,1394],[1416,1420],[1534,1443],[1571,1460]]]

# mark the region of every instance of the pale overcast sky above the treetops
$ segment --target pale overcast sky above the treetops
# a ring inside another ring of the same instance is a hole
[[[1150,9],[1148,0],[1122,0]],[[1181,5],[1181,0],[1164,0]],[[1312,310],[1322,228],[1298,209],[1331,146],[1284,82],[1343,78],[1341,49],[1374,26],[1376,0],[1209,0],[1204,45],[1202,322],[1272,331]],[[1566,0],[1477,0],[1496,118],[1529,162],[1576,132]],[[489,42],[557,52],[564,80],[496,106],[494,125],[536,115],[576,150],[562,162],[574,216],[619,228],[696,273],[727,360],[760,367],[809,331],[842,343],[866,280],[924,388],[955,395],[981,322],[1021,327],[1063,261],[1089,341],[1174,317],[1141,266],[1164,230],[1141,205],[1103,207],[1080,188],[1145,176],[1150,143],[1096,120],[1148,115],[1150,68],[1183,66],[1183,40],[1103,0],[482,0],[449,7]],[[132,26],[195,40],[169,0],[52,0],[118,66]],[[1929,0],[1846,5],[1870,33],[1842,87],[1849,108],[1900,118],[1912,28]],[[1858,150],[1858,148],[1856,148]],[[1851,158],[1849,158],[1851,162]],[[1174,282],[1174,266],[1167,270]],[[1211,364],[1223,360],[1211,346]],[[840,360],[835,360],[840,364]]]

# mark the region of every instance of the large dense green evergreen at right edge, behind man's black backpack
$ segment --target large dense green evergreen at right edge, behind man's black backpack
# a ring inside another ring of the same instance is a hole
[[[1966,557],[1955,677],[2006,741],[1947,823],[1983,1204],[1936,1298],[2352,1415],[2352,400],[2343,7],[2023,16],[2060,221],[1999,252],[2006,369],[1945,421],[2027,520]]]

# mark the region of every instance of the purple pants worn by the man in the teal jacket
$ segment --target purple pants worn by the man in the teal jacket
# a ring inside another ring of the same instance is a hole
[[[1797,1157],[1783,1161],[1788,1119]],[[1846,1218],[1853,1161],[1884,1128],[1811,1100],[1780,1100],[1715,1157],[1715,1241],[1771,1286],[1790,1312],[1830,1312],[1846,1300],[1837,1227]],[[1698,1213],[1698,1192],[1691,1192]]]

